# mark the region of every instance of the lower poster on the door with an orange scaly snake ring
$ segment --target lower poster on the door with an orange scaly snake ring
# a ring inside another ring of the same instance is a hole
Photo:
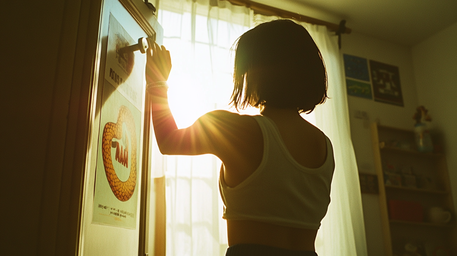
[[[135,229],[141,112],[107,80],[103,94],[92,222]]]

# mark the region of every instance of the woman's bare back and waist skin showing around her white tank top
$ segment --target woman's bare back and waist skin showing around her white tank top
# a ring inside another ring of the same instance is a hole
[[[292,157],[304,167],[318,168],[327,157],[324,134],[308,123],[297,112],[280,109],[265,109],[263,115],[270,117]],[[238,131],[236,144],[238,159],[221,159],[221,175],[229,187],[236,187],[249,177],[260,165],[263,156],[263,137],[254,118],[240,116],[244,120],[244,132]],[[243,143],[244,141],[244,143]],[[263,244],[291,250],[314,251],[317,230],[299,229],[252,220],[227,220],[228,245]]]

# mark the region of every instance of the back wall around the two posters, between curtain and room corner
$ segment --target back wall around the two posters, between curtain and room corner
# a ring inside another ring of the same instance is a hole
[[[373,150],[370,123],[412,129],[412,116],[418,105],[414,85],[410,48],[367,37],[356,32],[344,34],[341,53],[346,53],[399,67],[404,107],[381,103],[356,96],[348,96],[351,134],[359,172],[373,173]],[[356,118],[357,111],[367,112],[368,120]],[[362,194],[362,207],[369,256],[384,255],[379,199],[377,195]]]

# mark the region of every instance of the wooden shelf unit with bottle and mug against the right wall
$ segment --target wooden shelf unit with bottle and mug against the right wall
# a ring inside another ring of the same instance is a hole
[[[404,244],[411,241],[419,244],[426,241],[441,243],[449,250],[450,255],[457,255],[456,214],[454,213],[451,185],[444,154],[422,153],[414,150],[414,132],[412,129],[398,129],[372,123],[371,131],[385,255],[403,255]],[[403,143],[403,148],[392,146],[395,142]],[[436,181],[436,187],[386,185],[384,181],[384,171],[386,170],[384,169],[387,162],[398,169],[410,166],[414,171],[417,170],[422,174],[432,176]],[[389,219],[388,200],[390,199],[421,203],[424,207],[424,222]],[[427,213],[428,209],[434,206],[451,211],[451,222],[446,224],[431,223]]]

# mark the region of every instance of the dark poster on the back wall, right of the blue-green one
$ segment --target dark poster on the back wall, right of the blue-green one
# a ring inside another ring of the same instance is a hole
[[[399,68],[370,60],[370,72],[374,100],[403,107]]]

